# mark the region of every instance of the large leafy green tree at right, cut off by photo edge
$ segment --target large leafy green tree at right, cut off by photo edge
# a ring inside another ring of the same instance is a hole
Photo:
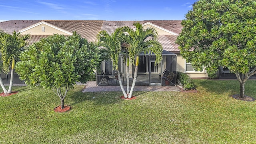
[[[255,0],[199,0],[182,26],[176,41],[182,57],[198,71],[227,67],[236,74],[244,98],[244,83],[256,74]]]

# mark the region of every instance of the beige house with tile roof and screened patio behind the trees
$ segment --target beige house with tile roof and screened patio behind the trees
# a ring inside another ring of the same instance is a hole
[[[192,78],[208,77],[206,70],[203,70],[202,72],[194,71],[191,64],[186,62],[186,60],[180,56],[178,45],[175,44],[175,41],[182,30],[181,20],[9,20],[0,22],[0,29],[9,34],[12,34],[14,30],[16,30],[16,32],[20,32],[21,34],[30,34],[31,38],[28,40],[29,44],[32,44],[33,42],[40,40],[40,38],[45,38],[54,33],[67,36],[72,35],[73,31],[76,31],[81,35],[82,38],[86,38],[88,41],[96,42],[96,36],[101,30],[106,30],[110,34],[118,27],[128,26],[130,28],[134,28],[134,22],[140,22],[144,28],[155,28],[159,35],[158,41],[162,44],[164,50],[163,61],[161,64],[158,64],[158,66],[154,66],[154,54],[141,54],[138,69],[138,74],[141,76],[138,76],[138,78],[141,77],[144,80],[146,78],[147,82],[145,85],[165,85],[164,80],[166,80],[167,76],[170,75],[175,77],[176,71],[184,72]],[[124,78],[126,76],[126,66],[124,66],[122,63],[122,58],[120,58],[120,67],[123,68],[120,70],[123,73],[123,79],[126,79]],[[115,72],[112,70],[111,61],[104,61],[101,68],[103,71],[98,73],[97,84],[103,82],[104,78],[107,78],[105,84],[116,84],[116,81],[113,81]],[[134,67],[130,66],[129,73],[131,78],[133,72]],[[7,77],[3,76],[2,78],[6,78],[6,82],[8,82],[8,75]],[[176,78],[172,78],[172,80],[169,81],[175,85],[176,81],[174,80],[176,80]],[[18,83],[19,80],[14,82]]]

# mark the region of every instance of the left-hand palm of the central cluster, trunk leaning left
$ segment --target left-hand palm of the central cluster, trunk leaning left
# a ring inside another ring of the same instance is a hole
[[[124,96],[127,96],[124,91],[124,87],[121,81],[120,72],[118,69],[118,60],[119,54],[122,52],[122,42],[125,35],[122,31],[122,28],[117,28],[114,33],[111,35],[108,34],[105,30],[99,32],[97,38],[99,41],[99,46],[103,46],[104,48],[100,49],[100,54],[102,56],[102,60],[111,59],[113,62],[113,69],[115,69],[118,73],[118,82],[121,87],[121,90]]]

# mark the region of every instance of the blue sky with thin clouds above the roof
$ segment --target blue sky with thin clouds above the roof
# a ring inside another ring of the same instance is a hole
[[[182,20],[196,0],[0,0],[4,20]]]

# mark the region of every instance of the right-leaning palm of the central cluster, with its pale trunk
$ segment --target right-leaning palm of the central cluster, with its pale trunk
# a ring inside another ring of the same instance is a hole
[[[133,24],[136,30],[129,27],[124,27],[124,31],[127,32],[128,38],[126,39],[128,48],[128,55],[133,64],[135,64],[134,78],[132,81],[132,87],[128,98],[132,97],[132,92],[136,83],[138,65],[139,65],[139,54],[141,52],[154,53],[156,55],[155,65],[162,61],[162,45],[156,40],[158,34],[154,28],[144,29],[142,24],[136,22]],[[127,98],[127,97],[126,97]]]

